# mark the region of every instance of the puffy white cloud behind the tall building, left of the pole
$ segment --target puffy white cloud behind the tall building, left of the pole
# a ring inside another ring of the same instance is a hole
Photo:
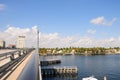
[[[26,36],[26,45],[32,46],[35,44],[36,31],[30,28],[19,28],[14,26],[8,26],[5,31],[0,32],[0,39],[6,41],[8,44],[16,44],[18,36]],[[29,45],[31,44],[31,45]]]

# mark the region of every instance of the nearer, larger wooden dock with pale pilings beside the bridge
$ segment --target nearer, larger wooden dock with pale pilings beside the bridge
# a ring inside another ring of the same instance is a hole
[[[42,67],[41,74],[43,77],[77,76],[78,68],[73,66],[53,67],[53,68]]]

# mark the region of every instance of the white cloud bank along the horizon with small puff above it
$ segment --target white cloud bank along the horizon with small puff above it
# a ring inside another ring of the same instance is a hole
[[[37,26],[32,28],[19,28],[9,26],[5,31],[0,31],[0,40],[5,40],[6,44],[17,44],[20,35],[26,36],[26,47],[36,47]],[[95,33],[95,30],[88,30]],[[120,37],[108,39],[94,39],[85,36],[61,36],[59,33],[39,33],[40,47],[120,47]]]

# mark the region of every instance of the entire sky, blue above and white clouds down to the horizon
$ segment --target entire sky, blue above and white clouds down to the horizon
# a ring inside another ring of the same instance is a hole
[[[40,47],[120,47],[120,0],[0,0],[0,39]],[[31,43],[31,44],[30,44]]]

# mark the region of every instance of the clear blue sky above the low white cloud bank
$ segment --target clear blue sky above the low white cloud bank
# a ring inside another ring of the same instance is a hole
[[[0,31],[9,26],[95,39],[119,37],[120,0],[0,0]]]

